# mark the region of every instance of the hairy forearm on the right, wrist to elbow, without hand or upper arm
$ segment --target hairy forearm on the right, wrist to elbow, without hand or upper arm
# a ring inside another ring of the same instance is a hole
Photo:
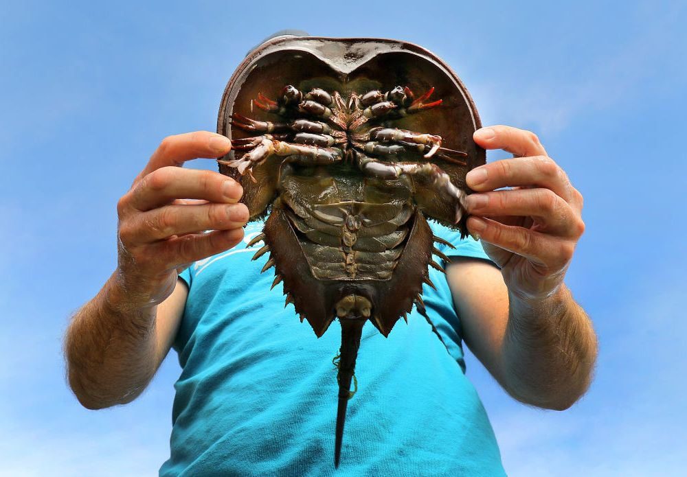
[[[510,294],[502,369],[515,399],[542,408],[569,408],[589,387],[596,361],[596,335],[570,291],[537,303]]]

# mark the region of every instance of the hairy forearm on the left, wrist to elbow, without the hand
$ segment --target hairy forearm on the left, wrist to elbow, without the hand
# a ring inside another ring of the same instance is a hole
[[[155,373],[155,306],[131,303],[113,275],[65,336],[69,384],[89,409],[126,404]]]

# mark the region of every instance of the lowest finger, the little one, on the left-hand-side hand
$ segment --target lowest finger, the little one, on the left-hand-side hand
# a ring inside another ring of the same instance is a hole
[[[165,262],[168,269],[181,268],[185,264],[212,257],[229,250],[243,240],[243,229],[216,230],[208,233],[196,233],[174,237],[166,242],[159,242],[150,248]]]

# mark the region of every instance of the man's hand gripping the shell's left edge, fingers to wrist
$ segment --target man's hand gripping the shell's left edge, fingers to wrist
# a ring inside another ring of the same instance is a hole
[[[240,184],[218,172],[180,167],[230,149],[229,139],[207,131],[167,137],[120,199],[115,280],[128,306],[158,305],[181,270],[242,240],[249,213],[238,203]]]

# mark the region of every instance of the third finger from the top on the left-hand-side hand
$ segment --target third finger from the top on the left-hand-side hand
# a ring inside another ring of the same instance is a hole
[[[248,208],[243,204],[166,205],[120,224],[120,240],[126,245],[149,244],[174,235],[243,227]]]

